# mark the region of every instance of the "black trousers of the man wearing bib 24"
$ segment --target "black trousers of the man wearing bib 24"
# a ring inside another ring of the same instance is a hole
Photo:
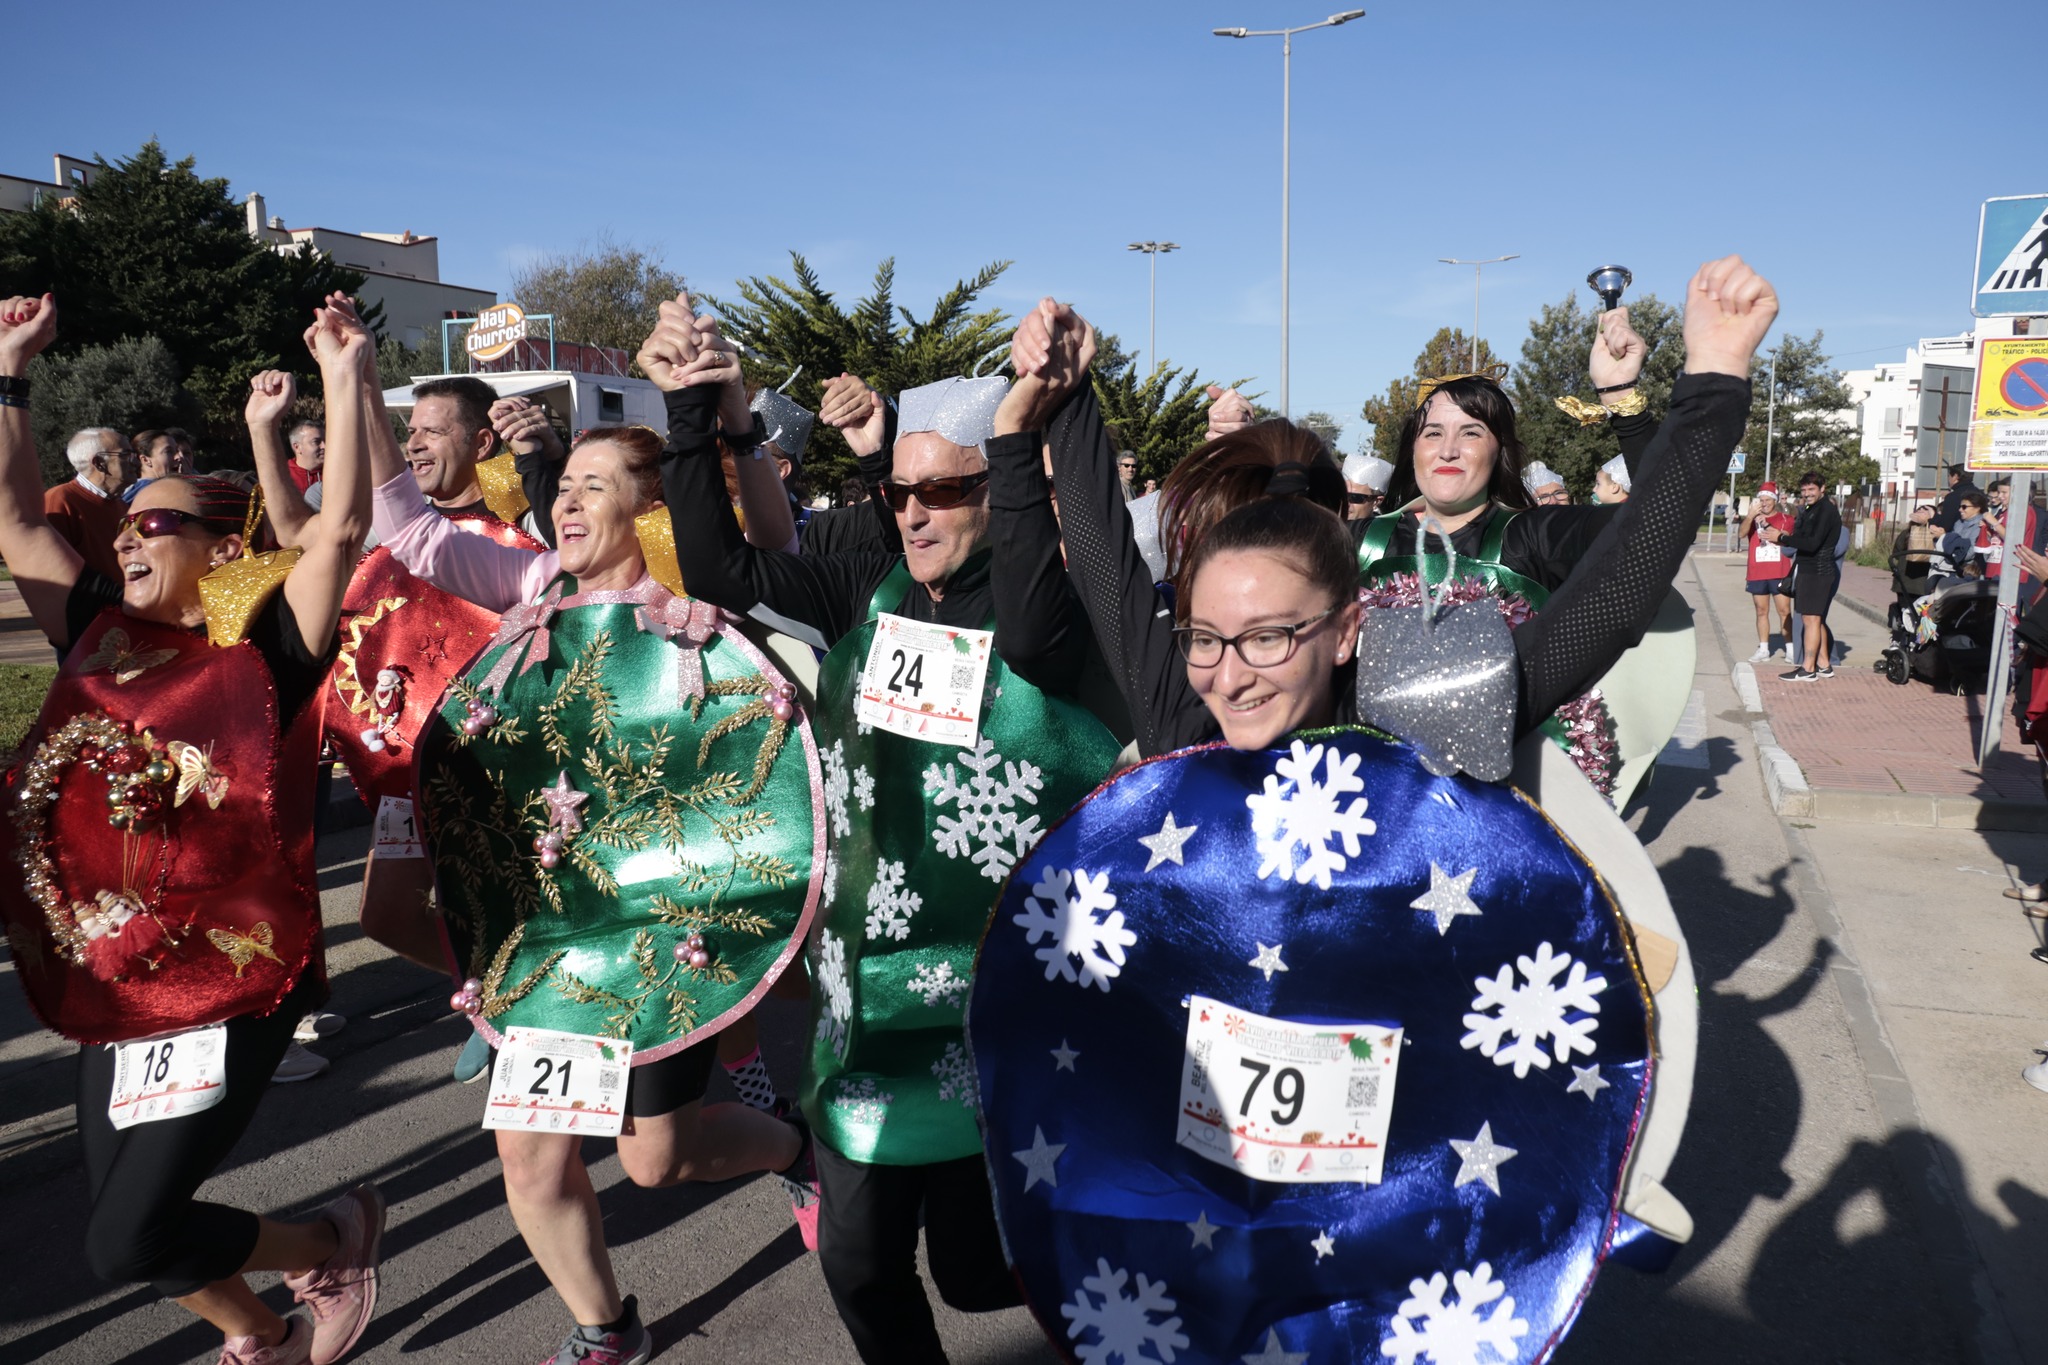
[[[831,1304],[868,1365],[944,1365],[918,1279],[918,1220],[938,1297],[969,1314],[1024,1302],[995,1232],[981,1156],[870,1166],[817,1144],[817,1259]]]

